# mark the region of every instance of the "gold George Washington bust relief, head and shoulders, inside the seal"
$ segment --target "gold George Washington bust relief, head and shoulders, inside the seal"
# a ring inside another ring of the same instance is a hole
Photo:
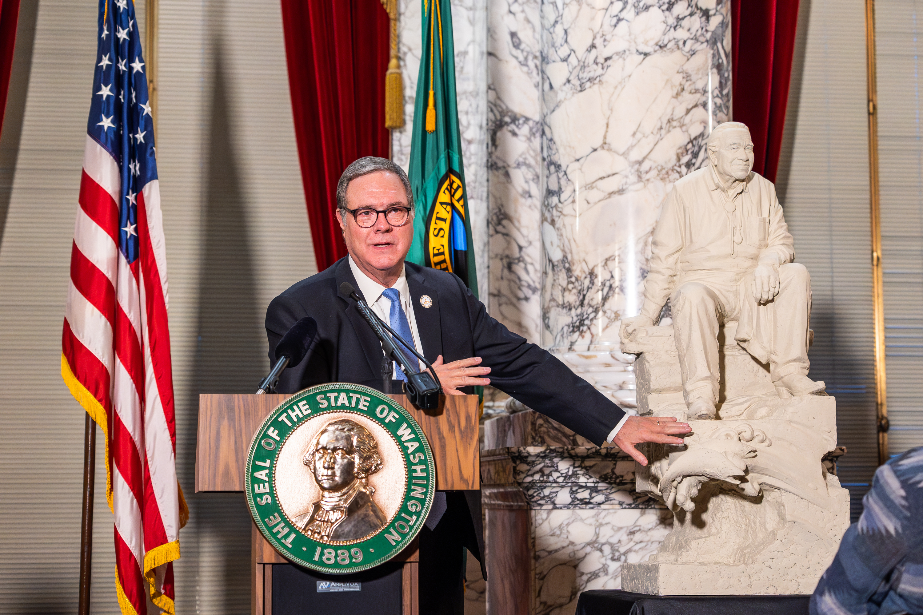
[[[303,461],[320,488],[320,500],[293,519],[309,538],[359,540],[388,522],[368,484],[382,460],[378,443],[365,427],[348,419],[330,422],[308,446]]]

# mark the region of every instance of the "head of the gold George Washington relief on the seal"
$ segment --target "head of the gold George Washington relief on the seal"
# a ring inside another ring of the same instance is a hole
[[[307,447],[305,465],[324,491],[342,491],[381,469],[378,443],[354,420],[334,420]]]

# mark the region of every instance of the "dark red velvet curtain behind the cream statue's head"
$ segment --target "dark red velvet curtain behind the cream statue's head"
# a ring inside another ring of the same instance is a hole
[[[731,0],[734,121],[753,138],[753,171],[770,182],[779,169],[792,75],[798,0]]]

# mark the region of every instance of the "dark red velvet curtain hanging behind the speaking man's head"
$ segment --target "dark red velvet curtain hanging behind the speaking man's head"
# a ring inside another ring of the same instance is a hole
[[[282,0],[294,132],[318,271],[346,255],[337,181],[363,156],[389,157],[388,14],[380,0]]]

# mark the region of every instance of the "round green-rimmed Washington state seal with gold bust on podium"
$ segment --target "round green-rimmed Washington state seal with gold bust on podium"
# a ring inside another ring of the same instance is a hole
[[[436,467],[413,416],[360,384],[321,384],[260,425],[246,459],[246,502],[292,562],[348,574],[389,561],[426,520]]]

